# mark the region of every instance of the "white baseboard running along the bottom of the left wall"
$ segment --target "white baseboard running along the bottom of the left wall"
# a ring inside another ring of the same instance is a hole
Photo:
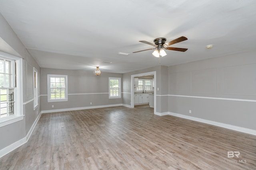
[[[9,145],[8,147],[5,147],[4,149],[0,150],[0,158],[6,154],[8,154],[9,152],[12,152],[12,150],[20,147],[21,145],[25,144],[28,142],[28,139],[30,138],[32,132],[34,131],[34,128],[36,127],[36,124],[39,120],[41,116],[41,112],[39,113],[39,115],[37,116],[36,120],[34,121],[32,127],[30,128],[30,130],[28,131],[28,134],[26,135],[26,137],[20,139],[19,141],[12,143],[11,145]]]

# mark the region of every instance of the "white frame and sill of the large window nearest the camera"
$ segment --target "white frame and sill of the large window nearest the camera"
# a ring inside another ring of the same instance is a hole
[[[14,115],[0,118],[0,127],[21,121],[24,119],[23,114],[23,78],[22,78],[22,58],[16,57],[0,51],[0,57],[16,62],[16,87],[14,88]],[[15,83],[15,82],[14,82]]]

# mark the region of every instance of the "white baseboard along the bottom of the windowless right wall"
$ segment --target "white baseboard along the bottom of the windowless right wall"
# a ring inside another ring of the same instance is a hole
[[[234,131],[239,131],[239,132],[248,133],[248,134],[251,134],[251,135],[256,135],[256,130],[253,130],[253,129],[248,129],[248,128],[244,128],[244,127],[229,125],[229,124],[226,124],[226,123],[220,123],[220,122],[216,122],[216,121],[210,121],[210,120],[201,119],[201,118],[192,117],[192,116],[187,116],[187,115],[182,115],[182,114],[179,114],[179,113],[164,112],[164,113],[159,113],[157,115],[172,115],[172,116],[181,117],[181,118],[184,118],[184,119],[189,119],[189,120],[193,120],[193,121],[207,123],[207,124],[210,124],[210,125],[224,127],[226,129],[231,129],[231,130],[234,130]]]

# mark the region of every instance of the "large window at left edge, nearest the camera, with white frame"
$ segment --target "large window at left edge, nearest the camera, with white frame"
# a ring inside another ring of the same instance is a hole
[[[0,127],[23,119],[22,59],[0,52]]]

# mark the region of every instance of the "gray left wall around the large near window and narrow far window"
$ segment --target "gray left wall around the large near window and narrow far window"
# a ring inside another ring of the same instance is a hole
[[[40,84],[40,67],[34,58],[28,53],[24,45],[14,33],[10,25],[0,14],[0,51],[22,57],[23,60],[23,111],[24,119],[4,127],[0,127],[0,150],[9,145],[26,138],[28,132],[32,128],[33,123],[40,114],[40,97],[38,99],[39,105],[34,110],[33,105],[33,67],[38,70],[38,84]],[[40,86],[38,87],[38,96],[40,96]],[[32,101],[31,101],[32,100]]]

